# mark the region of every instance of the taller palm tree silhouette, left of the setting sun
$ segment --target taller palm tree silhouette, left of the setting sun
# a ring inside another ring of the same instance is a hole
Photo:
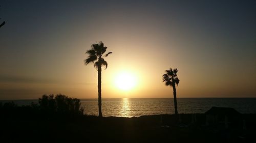
[[[89,63],[94,63],[94,67],[98,71],[98,106],[99,106],[99,117],[102,117],[101,112],[101,67],[105,66],[105,69],[108,68],[108,63],[103,59],[103,57],[108,56],[112,52],[104,54],[107,47],[104,47],[104,44],[100,41],[97,44],[92,44],[91,49],[86,53],[89,54],[88,58],[84,60],[84,64],[88,65]],[[104,55],[103,55],[104,54]]]

